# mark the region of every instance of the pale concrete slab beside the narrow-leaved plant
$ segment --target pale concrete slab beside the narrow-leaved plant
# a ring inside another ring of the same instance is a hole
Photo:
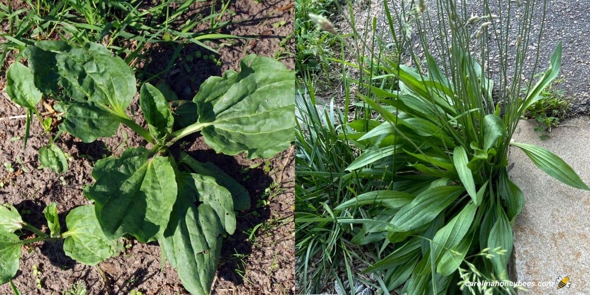
[[[568,163],[590,185],[590,121],[573,119],[540,140],[534,120],[521,121],[515,142],[549,149]],[[546,282],[529,294],[590,294],[590,192],[556,181],[520,149],[509,156],[510,179],[525,194],[525,208],[514,230],[513,273],[520,282]],[[556,278],[569,277],[571,285],[557,289]]]

